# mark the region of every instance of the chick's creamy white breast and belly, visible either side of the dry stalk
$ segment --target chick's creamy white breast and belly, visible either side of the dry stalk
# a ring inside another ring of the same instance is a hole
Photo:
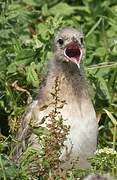
[[[51,111],[52,107],[48,107],[35,113],[37,116],[36,122],[48,116]],[[71,100],[69,98],[69,100],[66,99],[65,105],[59,111],[63,124],[70,127],[67,138],[64,141],[64,148],[61,150],[60,160],[65,161],[65,166],[68,166],[69,163],[81,157],[83,161],[81,167],[85,167],[85,165],[87,166],[87,160],[84,159],[93,155],[97,144],[98,126],[93,105],[88,99],[76,101],[75,98]],[[43,126],[47,125],[47,121]]]

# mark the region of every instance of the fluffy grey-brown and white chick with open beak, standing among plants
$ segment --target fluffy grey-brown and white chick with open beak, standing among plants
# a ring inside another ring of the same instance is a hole
[[[21,144],[17,148],[15,159],[22,157],[29,144],[39,148],[37,135],[28,134],[29,124],[33,116],[34,126],[47,126],[48,122],[43,123],[42,119],[52,111],[53,91],[58,82],[58,99],[64,102],[59,111],[63,124],[69,127],[59,156],[60,168],[65,171],[73,166],[85,169],[90,166],[88,158],[96,150],[98,123],[83,70],[86,56],[83,33],[72,27],[60,29],[54,38],[53,54],[38,97],[21,120],[21,127],[16,135]]]

